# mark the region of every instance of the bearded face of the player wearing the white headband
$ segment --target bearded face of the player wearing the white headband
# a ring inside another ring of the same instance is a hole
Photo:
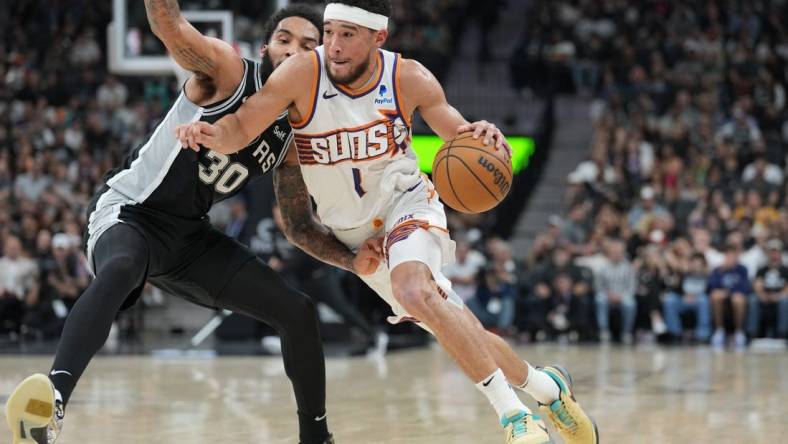
[[[383,45],[388,33],[340,20],[323,24],[323,45],[326,48],[326,71],[331,80],[352,85],[375,60],[375,52]]]

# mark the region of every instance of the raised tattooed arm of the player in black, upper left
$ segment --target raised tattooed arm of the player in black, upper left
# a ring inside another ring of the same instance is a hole
[[[151,30],[178,65],[211,79],[219,93],[238,86],[243,77],[241,57],[228,43],[202,35],[187,22],[177,0],[145,0],[145,12]]]

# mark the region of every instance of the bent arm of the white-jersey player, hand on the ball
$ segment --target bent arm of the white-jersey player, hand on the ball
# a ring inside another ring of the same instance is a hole
[[[446,100],[438,79],[415,60],[403,60],[400,84],[405,96],[405,107],[418,110],[424,121],[443,140],[452,140],[461,133],[473,131],[474,138],[484,137],[485,145],[495,143],[496,149],[509,149],[501,131],[492,123],[467,120]]]

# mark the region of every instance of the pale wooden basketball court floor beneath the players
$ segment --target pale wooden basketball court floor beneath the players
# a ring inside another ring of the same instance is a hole
[[[705,348],[519,349],[560,362],[602,443],[786,443],[788,353]],[[48,357],[0,357],[0,401]],[[436,348],[329,358],[338,444],[502,443],[487,401]],[[528,402],[533,405],[532,402]],[[295,404],[272,357],[101,357],[77,387],[58,444],[297,442]],[[0,442],[10,436],[5,418]]]

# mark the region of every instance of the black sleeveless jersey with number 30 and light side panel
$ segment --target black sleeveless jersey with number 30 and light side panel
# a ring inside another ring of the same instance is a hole
[[[230,155],[205,148],[199,153],[183,149],[175,137],[176,126],[198,120],[213,123],[234,113],[262,88],[270,70],[263,72],[260,63],[243,62],[243,80],[232,96],[201,107],[181,91],[147,142],[132,151],[123,166],[105,176],[107,187],[123,195],[126,205],[181,218],[202,218],[214,203],[238,193],[250,180],[282,162],[293,138],[286,113],[247,147]]]

